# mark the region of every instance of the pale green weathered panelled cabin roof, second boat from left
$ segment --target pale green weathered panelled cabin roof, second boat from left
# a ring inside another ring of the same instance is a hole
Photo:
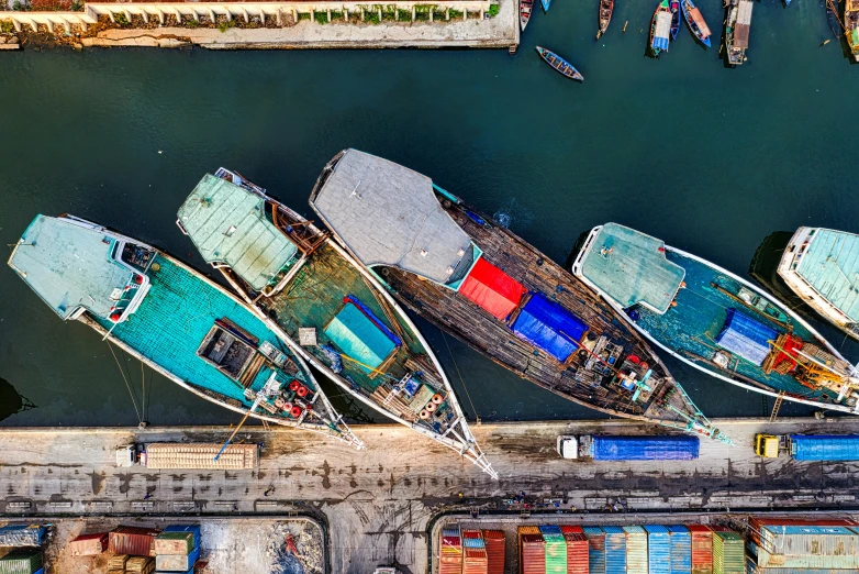
[[[179,208],[179,221],[208,263],[226,263],[261,291],[298,251],[264,210],[261,197],[207,174]]]

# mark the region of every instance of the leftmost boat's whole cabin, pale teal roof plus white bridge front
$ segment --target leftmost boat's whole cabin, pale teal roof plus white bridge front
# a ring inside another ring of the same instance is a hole
[[[64,320],[125,321],[149,289],[156,252],[85,220],[37,216],[9,265]],[[156,264],[157,265],[157,264]]]

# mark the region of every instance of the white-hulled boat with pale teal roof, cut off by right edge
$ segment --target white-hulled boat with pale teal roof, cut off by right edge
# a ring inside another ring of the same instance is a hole
[[[784,249],[778,273],[803,302],[859,339],[859,235],[800,228]]]

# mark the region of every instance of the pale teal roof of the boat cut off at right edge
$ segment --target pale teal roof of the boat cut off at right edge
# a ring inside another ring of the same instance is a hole
[[[859,321],[859,236],[819,229],[796,273],[854,321]]]

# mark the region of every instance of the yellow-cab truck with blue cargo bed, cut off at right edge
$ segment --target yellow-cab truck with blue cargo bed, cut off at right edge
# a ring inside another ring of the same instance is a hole
[[[859,434],[756,434],[755,454],[796,461],[859,461]]]

